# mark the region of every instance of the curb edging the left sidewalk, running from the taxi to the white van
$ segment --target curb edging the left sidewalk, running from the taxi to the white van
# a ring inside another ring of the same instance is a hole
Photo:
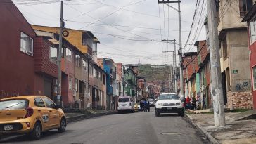
[[[98,114],[81,114],[75,117],[67,117],[67,123],[81,121],[84,119],[91,119],[94,117],[101,117],[104,115],[112,115],[112,114],[117,114],[117,112],[107,112],[107,113],[98,113]]]

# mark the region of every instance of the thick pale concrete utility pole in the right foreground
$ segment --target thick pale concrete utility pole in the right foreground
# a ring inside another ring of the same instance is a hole
[[[207,1],[211,61],[210,73],[212,77],[211,93],[213,98],[215,126],[217,127],[225,125],[222,74],[220,72],[219,60],[219,37],[217,30],[217,10],[219,6],[218,2],[218,0]]]

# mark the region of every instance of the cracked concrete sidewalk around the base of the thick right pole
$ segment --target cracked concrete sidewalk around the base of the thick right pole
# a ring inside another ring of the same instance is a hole
[[[192,124],[196,126],[211,143],[256,143],[256,119],[236,121],[236,119],[245,119],[244,115],[250,116],[256,114],[253,110],[247,112],[226,112],[226,126],[219,128],[215,128],[214,126],[214,116],[212,112],[200,114],[200,110],[196,110],[188,113],[186,117],[191,120]]]

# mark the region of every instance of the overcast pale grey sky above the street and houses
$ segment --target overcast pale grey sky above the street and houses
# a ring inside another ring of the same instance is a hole
[[[206,0],[197,1],[181,0],[183,52],[196,51],[195,41],[205,40]],[[13,2],[30,24],[59,27],[60,0]],[[178,8],[177,4],[169,5]],[[174,51],[174,44],[161,40],[176,39],[179,43],[178,13],[158,4],[158,0],[64,0],[63,19],[65,27],[88,30],[98,38],[98,58],[112,58],[124,64],[173,63],[172,53],[163,51]],[[176,48],[178,51],[179,45]],[[178,62],[179,55],[177,65]]]

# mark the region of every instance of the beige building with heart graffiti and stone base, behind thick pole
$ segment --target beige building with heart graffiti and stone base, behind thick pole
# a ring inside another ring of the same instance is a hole
[[[219,4],[219,46],[224,100],[227,108],[252,108],[248,32],[241,22],[252,0],[222,0]]]

